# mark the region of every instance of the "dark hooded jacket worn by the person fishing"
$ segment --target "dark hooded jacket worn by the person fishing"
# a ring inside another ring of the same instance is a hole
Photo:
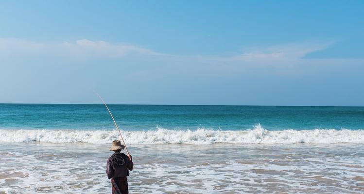
[[[133,162],[124,153],[115,153],[107,160],[107,178],[127,177],[129,170],[133,170],[133,166]]]

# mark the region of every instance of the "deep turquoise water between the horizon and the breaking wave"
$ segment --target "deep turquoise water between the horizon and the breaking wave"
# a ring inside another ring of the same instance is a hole
[[[364,107],[109,105],[124,130],[364,129]],[[0,104],[0,129],[114,129],[104,105]]]

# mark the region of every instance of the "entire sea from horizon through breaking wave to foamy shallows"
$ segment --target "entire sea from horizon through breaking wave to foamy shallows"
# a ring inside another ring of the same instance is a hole
[[[131,193],[364,193],[364,107],[109,108]],[[0,193],[110,193],[115,139],[104,105],[0,104]]]

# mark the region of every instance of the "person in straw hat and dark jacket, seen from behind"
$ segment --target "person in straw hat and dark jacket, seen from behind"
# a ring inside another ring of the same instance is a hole
[[[110,156],[106,164],[107,178],[111,178],[112,194],[128,194],[128,179],[129,170],[133,170],[134,163],[131,155],[127,156],[120,153],[124,149],[119,140],[114,140],[110,151],[114,154]]]

